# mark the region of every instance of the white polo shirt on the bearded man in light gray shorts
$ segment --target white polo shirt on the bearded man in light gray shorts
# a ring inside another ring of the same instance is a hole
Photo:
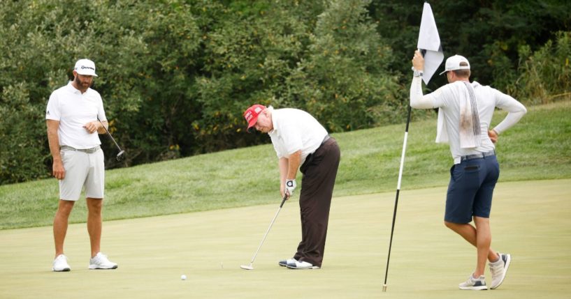
[[[93,89],[81,93],[71,82],[50,95],[45,119],[59,121],[57,135],[60,146],[93,148],[101,144],[97,132],[89,134],[83,126],[90,121],[107,121],[101,95]]]

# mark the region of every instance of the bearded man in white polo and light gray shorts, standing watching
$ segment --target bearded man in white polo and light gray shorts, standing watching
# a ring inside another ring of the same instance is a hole
[[[97,133],[104,134],[108,124],[101,95],[89,88],[93,77],[97,77],[95,63],[89,59],[78,60],[73,69],[73,81],[50,95],[45,111],[53,176],[59,180],[59,206],[53,227],[55,259],[52,270],[55,272],[71,270],[64,255],[64,239],[69,214],[84,187],[92,256],[89,269],[117,268],[117,263],[109,261],[100,252],[105,167]]]

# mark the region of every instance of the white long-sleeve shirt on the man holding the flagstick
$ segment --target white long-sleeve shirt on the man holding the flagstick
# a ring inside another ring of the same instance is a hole
[[[493,116],[493,110],[498,107],[508,112],[507,116],[496,125],[495,130],[498,135],[515,125],[524,114],[526,107],[512,98],[490,86],[482,86],[478,82],[472,82],[472,87],[476,95],[478,115],[481,129],[481,145],[476,148],[461,148],[459,137],[460,105],[458,98],[465,96],[465,86],[462,82],[456,81],[446,84],[440,89],[427,95],[422,94],[421,77],[413,77],[410,86],[410,107],[417,109],[439,108],[439,117],[444,121],[444,127],[448,134],[450,152],[454,158],[454,164],[460,163],[463,155],[475,153],[485,153],[495,148],[488,136],[489,126]]]

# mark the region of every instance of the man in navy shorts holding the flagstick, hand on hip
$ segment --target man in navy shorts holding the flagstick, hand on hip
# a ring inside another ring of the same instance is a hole
[[[500,175],[494,143],[526,114],[526,107],[509,95],[478,82],[470,83],[470,63],[454,55],[446,61],[449,84],[427,95],[422,94],[421,76],[424,58],[416,51],[412,59],[414,77],[410,87],[410,106],[419,109],[438,108],[436,141],[450,144],[454,166],[450,169],[444,224],[477,247],[477,266],[464,290],[486,290],[486,260],[492,275],[490,289],[502,284],[511,262],[510,254],[491,249],[490,210],[493,189]],[[490,129],[494,109],[508,112],[496,127]],[[474,221],[474,226],[470,222]]]

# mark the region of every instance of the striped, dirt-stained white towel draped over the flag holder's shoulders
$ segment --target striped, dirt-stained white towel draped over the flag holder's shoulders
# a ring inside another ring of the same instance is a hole
[[[480,140],[480,130],[478,106],[476,102],[476,94],[470,82],[463,82],[465,85],[465,94],[459,100],[460,105],[460,122],[458,123],[458,132],[460,139],[460,148],[477,148],[482,144]],[[444,115],[442,109],[438,109],[438,125],[436,131],[436,142],[448,143],[448,132],[446,130]]]

